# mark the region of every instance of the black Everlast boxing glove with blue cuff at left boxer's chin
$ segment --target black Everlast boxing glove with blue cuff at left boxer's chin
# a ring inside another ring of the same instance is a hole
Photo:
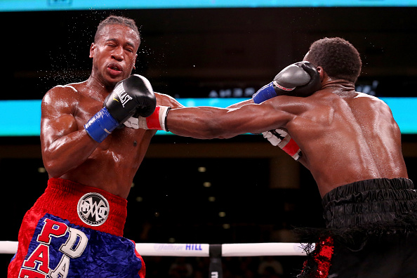
[[[103,108],[84,125],[88,135],[101,143],[114,128],[123,124],[133,115],[150,116],[157,106],[157,98],[150,82],[133,74],[116,84],[107,95]]]

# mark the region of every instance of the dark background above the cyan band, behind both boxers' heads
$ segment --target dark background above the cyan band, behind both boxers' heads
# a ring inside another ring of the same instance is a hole
[[[322,37],[343,37],[362,55],[358,84],[380,96],[413,96],[417,8],[218,8],[1,13],[2,99],[40,99],[84,81],[98,22],[125,15],[140,27],[134,73],[156,91],[207,97],[213,88],[258,89],[303,59]],[[7,93],[6,93],[7,92]]]

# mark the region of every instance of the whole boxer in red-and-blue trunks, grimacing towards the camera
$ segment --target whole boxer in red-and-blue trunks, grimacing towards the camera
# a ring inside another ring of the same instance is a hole
[[[126,198],[156,131],[124,127],[159,105],[135,68],[134,20],[102,20],[86,81],[51,88],[41,104],[41,152],[49,181],[20,227],[8,277],[145,277],[135,243],[123,237]]]

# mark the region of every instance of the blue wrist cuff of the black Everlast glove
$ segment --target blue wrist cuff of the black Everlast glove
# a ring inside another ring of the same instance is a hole
[[[105,140],[107,135],[112,133],[117,126],[119,126],[119,122],[112,117],[106,107],[103,107],[102,110],[95,113],[95,115],[87,121],[87,124],[84,124],[84,128],[88,135],[98,143],[102,143],[102,140]]]

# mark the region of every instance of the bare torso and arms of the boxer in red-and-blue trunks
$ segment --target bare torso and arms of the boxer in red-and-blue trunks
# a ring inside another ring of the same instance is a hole
[[[41,147],[49,176],[99,187],[126,198],[133,177],[156,131],[117,128],[102,143],[95,142],[84,124],[102,108],[105,93],[92,91],[89,81],[57,86],[42,102]],[[178,107],[167,95],[157,104]]]

